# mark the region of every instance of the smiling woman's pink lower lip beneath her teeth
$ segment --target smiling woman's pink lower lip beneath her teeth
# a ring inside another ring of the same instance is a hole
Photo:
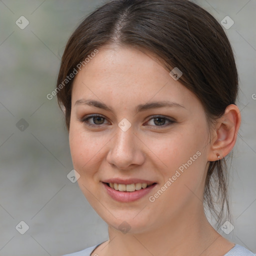
[[[116,201],[119,202],[132,202],[135,200],[138,200],[139,198],[145,196],[147,193],[150,192],[152,188],[155,187],[155,184],[152,184],[150,186],[147,186],[146,188],[141,188],[139,190],[135,190],[133,192],[127,192],[127,191],[117,191],[111,187],[109,187],[106,183],[103,183],[107,193]]]

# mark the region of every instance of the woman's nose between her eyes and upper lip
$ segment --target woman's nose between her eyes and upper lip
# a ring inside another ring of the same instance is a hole
[[[111,139],[106,160],[122,170],[130,169],[144,162],[143,144],[133,133],[131,127],[126,131],[117,127],[116,134]]]

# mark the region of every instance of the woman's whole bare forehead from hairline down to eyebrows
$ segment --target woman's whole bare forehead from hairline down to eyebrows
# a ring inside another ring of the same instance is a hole
[[[127,106],[150,99],[181,104],[196,99],[159,61],[131,47],[99,49],[74,79],[72,105],[81,97]]]

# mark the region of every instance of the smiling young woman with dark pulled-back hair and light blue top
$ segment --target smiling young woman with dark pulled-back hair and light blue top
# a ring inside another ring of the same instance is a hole
[[[253,255],[204,213],[217,226],[229,215],[237,80],[223,29],[190,1],[113,0],[82,21],[56,92],[77,182],[109,240],[70,255]]]

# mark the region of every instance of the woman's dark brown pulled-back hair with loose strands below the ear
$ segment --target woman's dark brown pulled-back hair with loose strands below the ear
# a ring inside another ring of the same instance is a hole
[[[200,100],[209,124],[223,115],[227,105],[235,104],[238,75],[232,48],[211,14],[188,0],[112,0],[80,23],[63,52],[57,100],[65,109],[67,130],[74,78],[65,79],[88,54],[107,45],[149,52],[168,71],[178,67],[182,71],[178,81]],[[66,84],[59,87],[64,80]],[[209,163],[203,196],[218,226],[224,207],[230,217],[224,158]]]

